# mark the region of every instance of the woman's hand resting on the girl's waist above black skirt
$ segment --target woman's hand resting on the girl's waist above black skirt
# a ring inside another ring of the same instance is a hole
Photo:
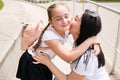
[[[34,52],[33,59],[36,60],[35,62],[33,62],[34,64],[42,63],[44,65],[47,65],[51,62],[49,55],[47,55],[46,53]]]

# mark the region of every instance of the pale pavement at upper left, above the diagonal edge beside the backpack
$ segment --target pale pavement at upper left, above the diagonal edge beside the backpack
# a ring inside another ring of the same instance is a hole
[[[0,65],[21,32],[21,22],[47,23],[46,10],[27,2],[4,0],[0,11]]]

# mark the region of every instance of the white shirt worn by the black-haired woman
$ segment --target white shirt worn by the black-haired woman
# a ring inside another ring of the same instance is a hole
[[[71,63],[71,69],[80,75],[85,75],[84,80],[110,80],[104,67],[98,68],[98,59],[91,49],[88,49],[81,59]]]

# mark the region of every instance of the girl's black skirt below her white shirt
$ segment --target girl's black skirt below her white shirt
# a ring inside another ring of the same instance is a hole
[[[35,61],[26,50],[18,64],[16,77],[21,80],[52,80],[52,72],[43,64],[33,64]]]

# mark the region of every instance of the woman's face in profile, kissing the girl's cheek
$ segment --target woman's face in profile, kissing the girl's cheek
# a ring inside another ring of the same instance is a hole
[[[71,34],[78,36],[80,34],[80,26],[83,12],[80,12],[78,15],[73,17],[73,21],[71,23],[70,32]]]

